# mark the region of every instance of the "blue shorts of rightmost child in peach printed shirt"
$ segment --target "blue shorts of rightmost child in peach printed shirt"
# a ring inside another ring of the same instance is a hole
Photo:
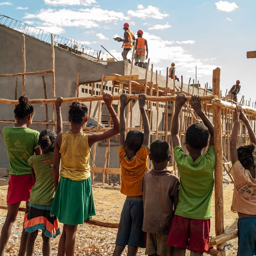
[[[255,217],[238,219],[238,254],[237,256],[256,255],[255,230],[256,230]]]

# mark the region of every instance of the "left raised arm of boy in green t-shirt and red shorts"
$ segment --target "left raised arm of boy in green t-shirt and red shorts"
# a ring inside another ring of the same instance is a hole
[[[180,145],[180,137],[178,135],[178,132],[180,129],[179,114],[180,114],[181,108],[186,103],[186,99],[187,97],[185,94],[179,94],[176,96],[176,105],[175,105],[174,117],[172,119],[172,127],[171,127],[172,146],[174,148],[175,146]]]

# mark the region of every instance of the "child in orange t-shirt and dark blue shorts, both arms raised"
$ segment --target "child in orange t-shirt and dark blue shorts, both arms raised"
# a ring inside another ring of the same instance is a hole
[[[146,115],[145,94],[139,95],[139,108],[142,114],[144,134],[140,130],[130,130],[126,135],[126,119],[124,110],[130,100],[126,100],[126,94],[120,97],[120,139],[119,161],[122,170],[121,193],[125,194],[119,228],[116,238],[116,247],[113,256],[121,256],[124,248],[128,245],[128,255],[135,256],[138,247],[145,247],[145,233],[143,225],[143,201],[142,201],[142,178],[148,171],[149,132],[150,126]]]

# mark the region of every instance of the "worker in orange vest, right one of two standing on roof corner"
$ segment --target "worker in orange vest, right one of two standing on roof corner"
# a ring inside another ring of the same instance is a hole
[[[142,37],[143,30],[137,31],[138,38],[136,39],[136,53],[135,53],[135,65],[143,68],[145,63],[145,52],[146,59],[148,58],[148,42]]]

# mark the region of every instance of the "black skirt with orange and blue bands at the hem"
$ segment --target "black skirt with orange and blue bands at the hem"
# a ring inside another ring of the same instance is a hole
[[[25,233],[42,229],[44,235],[49,238],[59,235],[59,222],[57,217],[50,214],[51,208],[52,206],[38,206],[29,202],[23,223]]]

